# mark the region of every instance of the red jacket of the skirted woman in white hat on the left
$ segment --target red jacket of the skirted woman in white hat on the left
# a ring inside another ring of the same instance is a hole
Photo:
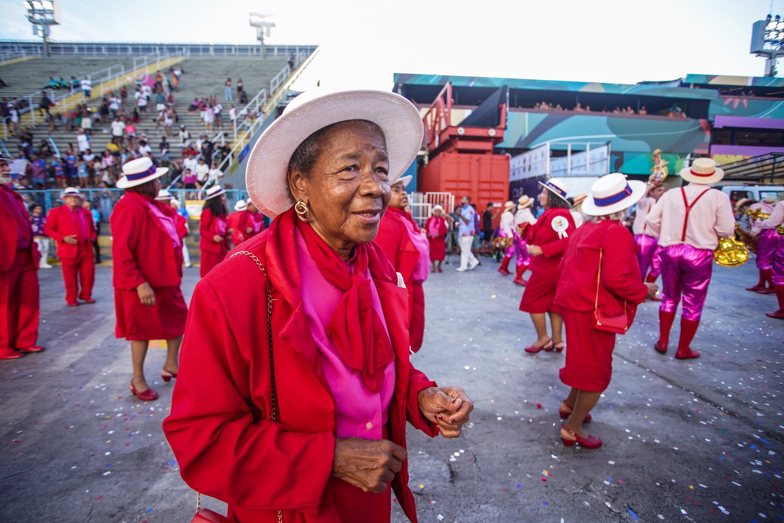
[[[172,247],[172,238],[145,201],[167,216],[176,214],[171,206],[135,192],[126,192],[114,205],[109,225],[115,289],[136,289],[144,282],[153,289],[179,287],[182,281],[183,249]]]

